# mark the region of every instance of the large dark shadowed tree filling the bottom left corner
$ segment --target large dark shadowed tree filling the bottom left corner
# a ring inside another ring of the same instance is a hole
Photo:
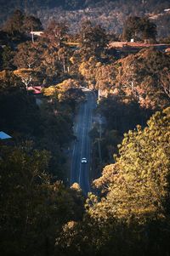
[[[29,142],[3,146],[0,153],[1,252],[54,254],[62,225],[82,218],[81,192],[66,189],[59,181],[52,183],[48,152],[33,150]]]

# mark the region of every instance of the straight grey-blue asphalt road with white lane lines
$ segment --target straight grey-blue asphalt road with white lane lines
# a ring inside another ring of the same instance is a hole
[[[91,141],[88,132],[92,128],[96,98],[91,91],[87,91],[85,94],[87,101],[80,106],[74,126],[77,139],[72,145],[71,152],[71,185],[77,182],[84,194],[87,195],[90,191],[89,172],[91,162]],[[85,157],[88,162],[82,163],[82,157]]]

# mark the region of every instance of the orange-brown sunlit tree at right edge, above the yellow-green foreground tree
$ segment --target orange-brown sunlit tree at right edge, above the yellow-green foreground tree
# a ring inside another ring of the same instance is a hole
[[[169,56],[155,49],[143,49],[116,63],[116,87],[119,94],[135,99],[141,107],[160,109],[169,104]],[[164,78],[162,78],[162,71]]]

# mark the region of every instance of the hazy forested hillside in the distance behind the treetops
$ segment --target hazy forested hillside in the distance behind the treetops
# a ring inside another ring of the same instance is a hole
[[[66,21],[72,31],[77,31],[82,20],[94,20],[106,30],[121,33],[128,15],[147,15],[155,17],[159,36],[167,37],[170,34],[170,12],[164,11],[170,8],[170,3],[166,0],[0,0],[0,4],[1,24],[14,9],[22,9],[28,14],[37,15],[44,26],[49,19],[56,19]]]

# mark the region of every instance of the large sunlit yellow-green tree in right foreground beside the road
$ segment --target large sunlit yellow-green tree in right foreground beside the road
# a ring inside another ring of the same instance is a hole
[[[169,108],[156,112],[144,130],[137,126],[137,131],[124,135],[116,163],[105,167],[103,176],[94,182],[108,191],[100,205],[101,216],[109,215],[110,207],[119,219],[144,221],[169,214],[169,115]]]

